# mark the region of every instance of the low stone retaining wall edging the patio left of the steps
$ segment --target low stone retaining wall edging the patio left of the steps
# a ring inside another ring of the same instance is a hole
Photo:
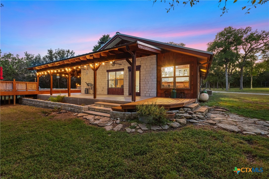
[[[88,110],[89,106],[80,106],[75,104],[65,104],[65,103],[56,103],[51,101],[43,101],[29,98],[19,98],[19,103],[24,105],[30,105],[35,107],[42,108],[59,108],[62,107],[62,110],[72,111],[72,112],[83,112]]]

